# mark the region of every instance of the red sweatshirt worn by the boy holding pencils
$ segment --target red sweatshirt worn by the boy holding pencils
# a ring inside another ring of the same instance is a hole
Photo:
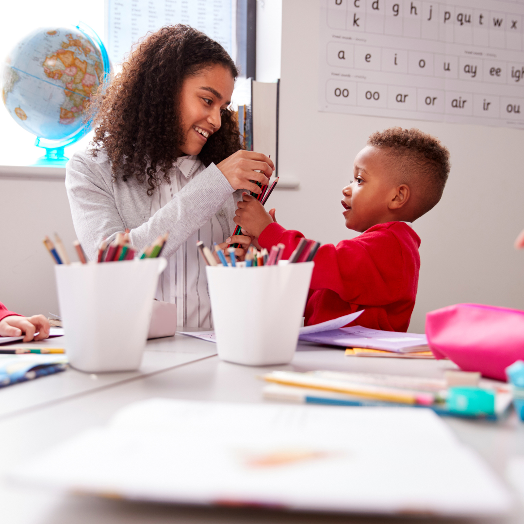
[[[258,243],[267,249],[285,244],[287,259],[302,236],[273,223]],[[304,325],[365,309],[349,325],[407,331],[417,296],[419,246],[419,236],[404,222],[377,224],[336,246],[321,246],[314,259]]]

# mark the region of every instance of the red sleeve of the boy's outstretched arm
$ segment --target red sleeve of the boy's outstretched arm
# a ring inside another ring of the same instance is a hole
[[[283,258],[289,258],[302,237],[298,231],[273,223],[260,234],[258,242],[266,248],[282,242],[286,245]],[[343,240],[336,246],[320,246],[314,262],[310,288],[331,289],[346,302],[384,305],[402,294],[402,252],[388,228]]]

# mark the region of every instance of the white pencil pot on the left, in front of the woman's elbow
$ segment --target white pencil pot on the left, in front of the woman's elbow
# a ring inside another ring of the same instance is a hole
[[[89,373],[138,369],[165,258],[55,266],[69,364]]]

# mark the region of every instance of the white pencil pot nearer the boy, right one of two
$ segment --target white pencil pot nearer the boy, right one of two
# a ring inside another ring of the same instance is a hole
[[[313,262],[206,267],[219,357],[248,366],[286,364],[297,347]]]

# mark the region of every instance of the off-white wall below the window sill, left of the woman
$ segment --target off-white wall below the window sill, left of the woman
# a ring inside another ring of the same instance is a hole
[[[54,264],[42,239],[58,233],[77,260],[64,177],[7,177],[0,176],[0,302],[23,315],[58,314]]]

